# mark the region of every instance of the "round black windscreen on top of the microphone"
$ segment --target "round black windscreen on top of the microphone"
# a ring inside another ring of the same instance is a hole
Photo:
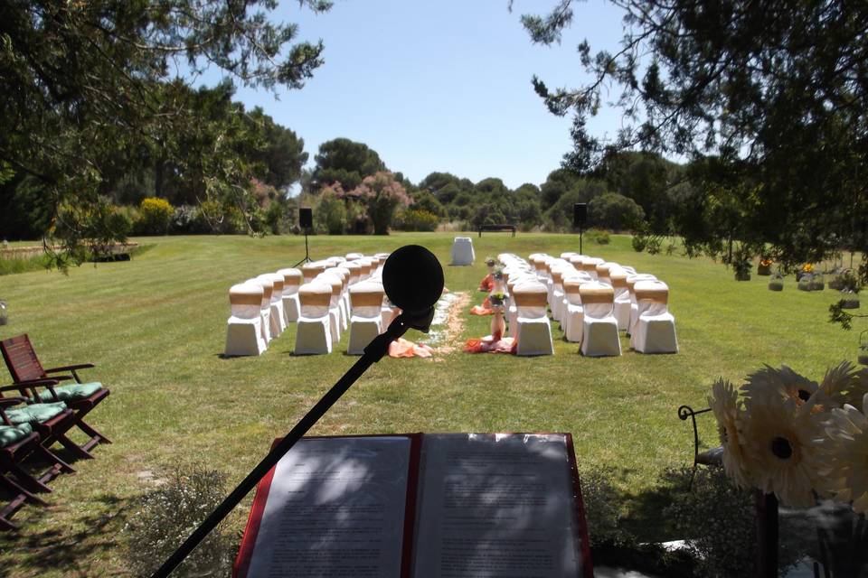
[[[443,267],[425,247],[405,245],[382,266],[382,287],[403,311],[427,312],[443,293]]]

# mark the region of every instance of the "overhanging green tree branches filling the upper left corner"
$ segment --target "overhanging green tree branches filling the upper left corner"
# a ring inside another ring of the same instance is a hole
[[[272,0],[0,4],[0,163],[42,184],[53,219],[64,201],[96,202],[107,178],[135,167],[130,160],[147,156],[173,126],[189,124],[189,109],[164,92],[179,67],[216,66],[246,86],[301,88],[322,63],[323,45],[297,42],[297,26],[270,22],[276,7]]]

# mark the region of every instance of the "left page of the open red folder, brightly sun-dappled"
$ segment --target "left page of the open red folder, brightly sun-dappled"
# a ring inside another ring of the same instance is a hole
[[[410,439],[302,439],[275,467],[249,578],[401,573]]]

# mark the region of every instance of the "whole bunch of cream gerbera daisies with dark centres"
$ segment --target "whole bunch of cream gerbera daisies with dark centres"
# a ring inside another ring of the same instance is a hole
[[[788,506],[807,508],[824,496],[868,511],[866,394],[868,370],[847,361],[820,383],[786,366],[761,368],[738,391],[718,379],[708,401],[727,475]]]

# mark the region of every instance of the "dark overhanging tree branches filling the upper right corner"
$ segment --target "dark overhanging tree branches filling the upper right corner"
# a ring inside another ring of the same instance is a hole
[[[844,237],[868,248],[868,4],[615,4],[625,14],[618,48],[579,46],[587,83],[552,90],[533,79],[553,113],[574,115],[567,166],[587,172],[633,147],[713,155],[749,183],[730,190],[742,212],[761,216],[746,240],[772,244],[779,260],[816,261]],[[573,1],[559,0],[523,22],[548,44],[572,17]],[[586,122],[606,104],[621,110],[623,128],[604,144]]]

